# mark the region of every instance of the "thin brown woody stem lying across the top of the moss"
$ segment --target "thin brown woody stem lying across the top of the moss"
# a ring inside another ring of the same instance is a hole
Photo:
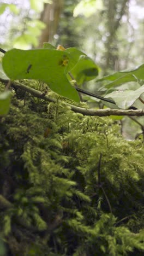
[[[8,84],[8,80],[4,80],[2,78],[0,78],[0,81],[4,84]],[[35,90],[27,85],[24,85],[20,82],[16,82],[13,81],[11,83],[11,86],[14,86],[14,88],[19,88],[21,90],[27,91],[29,92],[29,94],[31,94],[34,97],[37,98],[42,98],[45,101],[49,101],[49,102],[56,102],[56,100],[54,98],[50,98],[47,95],[44,95],[43,92],[40,92],[38,90]],[[129,110],[123,110],[123,109],[110,109],[110,108],[106,108],[106,109],[87,109],[87,108],[81,108],[81,107],[77,107],[74,106],[72,104],[68,104],[67,105],[71,108],[71,110],[73,110],[76,113],[81,113],[83,115],[91,115],[91,116],[98,116],[98,117],[109,117],[110,115],[128,115],[128,116],[143,116],[144,115],[144,110],[143,109],[129,109]]]

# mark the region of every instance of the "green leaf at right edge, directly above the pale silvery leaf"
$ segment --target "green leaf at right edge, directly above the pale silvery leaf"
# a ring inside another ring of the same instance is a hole
[[[124,75],[125,75],[125,82],[124,82]],[[129,77],[127,75],[129,75]],[[121,71],[121,72],[116,72],[112,75],[106,75],[105,77],[98,79],[97,82],[104,81],[104,80],[114,81],[118,78],[123,77],[123,83],[126,83],[126,82],[134,81],[134,76],[137,79],[144,80],[144,64],[142,64],[141,66],[131,71]]]

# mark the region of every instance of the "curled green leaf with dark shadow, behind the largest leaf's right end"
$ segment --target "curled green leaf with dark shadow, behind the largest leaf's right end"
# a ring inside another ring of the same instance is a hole
[[[91,58],[81,55],[74,68],[70,70],[70,73],[78,84],[83,84],[97,77],[99,68]]]

